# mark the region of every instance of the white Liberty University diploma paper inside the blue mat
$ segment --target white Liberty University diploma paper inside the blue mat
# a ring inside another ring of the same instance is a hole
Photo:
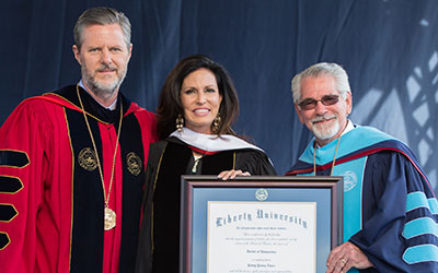
[[[208,202],[208,273],[314,273],[316,202]]]

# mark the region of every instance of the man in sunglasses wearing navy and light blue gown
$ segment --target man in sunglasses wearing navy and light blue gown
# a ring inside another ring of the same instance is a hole
[[[412,151],[348,120],[348,75],[336,63],[297,74],[292,93],[314,138],[287,175],[344,177],[344,244],[326,273],[438,272],[438,202]]]

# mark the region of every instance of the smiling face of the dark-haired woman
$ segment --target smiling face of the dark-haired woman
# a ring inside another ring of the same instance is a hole
[[[222,102],[215,74],[205,68],[189,73],[183,81],[180,97],[185,127],[198,133],[211,134],[211,123]]]

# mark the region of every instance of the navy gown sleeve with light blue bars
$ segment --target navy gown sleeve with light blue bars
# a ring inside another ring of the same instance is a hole
[[[350,238],[377,269],[364,272],[438,272],[437,200],[418,170],[401,153],[369,156],[364,227]]]

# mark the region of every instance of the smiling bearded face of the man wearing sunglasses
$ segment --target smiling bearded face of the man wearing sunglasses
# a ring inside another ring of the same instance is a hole
[[[343,98],[336,90],[335,79],[331,75],[307,76],[301,81],[301,98],[320,100],[330,95],[338,95],[339,100],[333,105],[324,106],[316,103],[313,109],[304,110],[295,105],[298,118],[315,135],[319,145],[323,146],[338,138],[347,124],[347,116],[351,112],[351,93],[346,93]]]

